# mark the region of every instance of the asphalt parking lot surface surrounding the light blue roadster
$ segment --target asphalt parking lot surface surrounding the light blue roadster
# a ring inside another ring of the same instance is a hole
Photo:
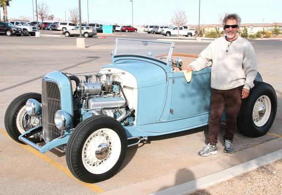
[[[61,35],[61,32],[50,32]],[[44,31],[45,33],[48,32]],[[87,184],[71,175],[64,152],[52,150],[41,155],[29,146],[12,141],[5,132],[5,110],[15,97],[23,93],[41,93],[41,78],[45,74],[57,70],[67,73],[99,70],[103,65],[111,63],[109,53],[115,38],[176,39],[120,32],[103,36],[103,39],[98,37],[99,35],[86,39],[86,48],[76,48],[76,38],[0,36],[0,194],[98,194],[142,182],[145,186],[148,181],[155,181],[156,178],[172,173],[185,173],[188,177],[195,178],[189,171],[191,167],[228,156],[223,152],[222,142],[219,142],[217,155],[197,155],[207,133],[207,127],[204,126],[181,133],[149,137],[148,141],[128,148],[125,161],[114,177],[96,184]],[[180,40],[176,41],[174,52],[198,54],[210,42],[196,42],[194,38],[184,37]],[[252,40],[251,43],[257,54],[258,70],[263,80],[276,90],[278,110],[269,134],[249,138],[236,133],[235,154],[282,135],[282,41]],[[224,128],[223,124],[222,129]],[[223,136],[223,131],[220,136]],[[180,182],[176,177],[175,185]],[[152,187],[153,191],[137,189],[136,194],[149,194],[155,192],[155,188],[158,191],[170,187],[161,183],[159,185]]]

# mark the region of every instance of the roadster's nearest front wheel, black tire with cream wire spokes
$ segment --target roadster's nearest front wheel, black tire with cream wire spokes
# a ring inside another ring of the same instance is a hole
[[[94,183],[112,177],[127,151],[123,126],[108,116],[90,117],[77,125],[66,149],[71,173],[81,181]]]

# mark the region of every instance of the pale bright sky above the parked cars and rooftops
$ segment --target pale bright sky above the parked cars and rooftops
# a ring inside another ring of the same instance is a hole
[[[12,0],[8,18],[25,16],[33,20],[33,2],[35,0]],[[56,21],[68,21],[69,9],[78,7],[79,0],[37,0],[45,2],[49,14],[54,14]],[[82,22],[103,24],[131,24],[132,3],[129,0],[81,0]],[[225,12],[237,13],[242,23],[282,22],[282,0],[200,0],[200,24],[218,24],[219,15]],[[133,23],[170,24],[177,9],[186,12],[188,25],[198,24],[199,0],[133,0]],[[2,9],[0,10],[3,16]]]

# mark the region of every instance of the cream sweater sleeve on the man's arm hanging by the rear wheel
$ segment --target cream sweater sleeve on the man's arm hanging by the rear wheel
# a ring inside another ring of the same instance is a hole
[[[246,75],[245,85],[243,88],[250,89],[254,86],[254,79],[257,75],[256,54],[251,43],[245,47],[243,55],[243,69]]]

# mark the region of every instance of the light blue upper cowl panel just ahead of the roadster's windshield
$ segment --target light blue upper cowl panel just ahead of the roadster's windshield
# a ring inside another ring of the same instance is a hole
[[[164,68],[158,63],[124,60],[121,63],[103,66],[103,68],[116,68],[131,73],[137,80],[138,88],[160,85],[167,80]]]

